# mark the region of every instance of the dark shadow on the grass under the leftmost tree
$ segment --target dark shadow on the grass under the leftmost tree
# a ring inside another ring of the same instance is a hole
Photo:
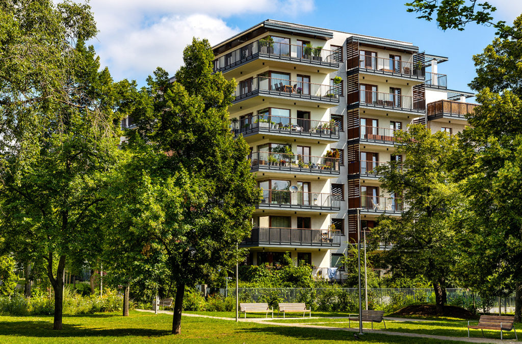
[[[51,321],[21,320],[0,323],[0,336],[21,337],[160,337],[170,331],[150,328],[85,328],[76,324],[63,324],[63,330],[53,330]]]

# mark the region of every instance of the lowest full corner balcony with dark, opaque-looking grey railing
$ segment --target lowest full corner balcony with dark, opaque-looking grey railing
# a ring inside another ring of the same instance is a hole
[[[340,231],[279,227],[254,227],[251,236],[241,242],[241,246],[339,247],[340,245]]]

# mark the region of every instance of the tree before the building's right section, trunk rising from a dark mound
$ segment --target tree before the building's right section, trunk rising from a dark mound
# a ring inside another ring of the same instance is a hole
[[[435,290],[437,313],[444,312],[446,286],[455,265],[455,228],[452,217],[459,204],[449,169],[456,138],[444,132],[431,133],[423,125],[410,125],[396,136],[396,154],[404,166],[392,162],[378,167],[382,188],[392,197],[402,195],[395,207],[404,207],[399,217],[382,215],[372,231],[373,242],[391,244],[381,260],[395,278],[428,279]]]

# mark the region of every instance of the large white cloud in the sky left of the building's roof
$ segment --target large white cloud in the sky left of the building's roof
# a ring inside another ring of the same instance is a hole
[[[296,17],[314,8],[313,0],[91,0],[98,34],[93,43],[102,66],[115,80],[142,83],[157,66],[171,75],[182,63],[192,37],[211,44],[241,31],[226,18],[245,14],[286,14]],[[257,23],[252,23],[252,25]]]

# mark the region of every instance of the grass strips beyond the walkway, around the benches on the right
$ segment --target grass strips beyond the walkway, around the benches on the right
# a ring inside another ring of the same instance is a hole
[[[275,319],[273,322],[278,323],[306,323],[311,324],[317,323],[317,325],[321,326],[331,326],[331,327],[348,327],[347,319]],[[477,320],[471,320],[471,325],[476,325]],[[468,322],[467,320],[460,320],[454,318],[444,318],[439,317],[437,320],[432,320],[429,322],[396,322],[396,321],[386,321],[387,331],[390,332],[407,332],[407,333],[417,333],[417,334],[426,334],[426,335],[437,335],[437,336],[452,336],[452,337],[467,337],[468,336]],[[358,321],[352,321],[351,327],[358,327]],[[370,323],[363,323],[363,328],[371,328]],[[382,329],[384,330],[383,323],[374,323],[374,329]],[[522,333],[522,324],[516,324],[515,328],[520,335]],[[470,329],[471,337],[482,337],[482,332],[480,330]],[[500,339],[500,331],[491,331],[484,330],[485,338],[492,339]],[[504,331],[504,339],[515,339],[514,331]],[[522,339],[522,337],[520,338]]]

